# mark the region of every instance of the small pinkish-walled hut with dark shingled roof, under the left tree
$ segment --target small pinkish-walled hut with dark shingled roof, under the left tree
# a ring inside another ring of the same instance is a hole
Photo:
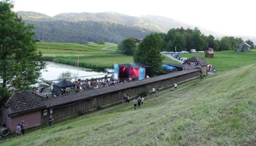
[[[5,127],[11,131],[15,131],[18,123],[23,120],[28,127],[40,125],[43,108],[46,105],[42,96],[32,91],[14,93],[2,103],[2,121],[5,121]]]

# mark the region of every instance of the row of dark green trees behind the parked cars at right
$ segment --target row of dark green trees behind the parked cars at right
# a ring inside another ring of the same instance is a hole
[[[239,44],[243,44],[242,38],[234,38],[232,36],[224,36],[221,39],[214,38],[213,35],[203,35],[201,31],[195,27],[195,29],[184,29],[172,28],[168,33],[159,33],[161,38],[164,40],[162,44],[162,51],[177,51],[195,49],[197,51],[204,51],[207,48],[214,48],[215,51],[224,50],[236,50]],[[251,40],[246,41],[252,49],[254,49],[254,44]]]

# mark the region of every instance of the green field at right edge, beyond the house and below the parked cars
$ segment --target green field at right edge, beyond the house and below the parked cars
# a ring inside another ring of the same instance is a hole
[[[236,51],[222,51],[214,52],[214,58],[204,58],[204,53],[197,54],[181,54],[185,58],[191,58],[193,56],[200,56],[205,59],[208,64],[213,64],[217,71],[230,70],[232,68],[238,68],[249,64],[256,63],[256,50],[251,52],[236,52]]]

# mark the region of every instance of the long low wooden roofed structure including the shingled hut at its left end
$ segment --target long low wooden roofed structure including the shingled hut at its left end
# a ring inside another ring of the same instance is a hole
[[[55,121],[78,115],[100,106],[120,102],[123,100],[124,93],[133,98],[144,92],[147,86],[154,86],[155,88],[172,86],[175,82],[197,78],[200,72],[201,70],[198,68],[182,70],[172,74],[48,99],[43,99],[42,96],[32,91],[14,93],[1,104],[2,123],[4,127],[11,129],[11,132],[15,132],[16,126],[22,120],[28,124],[28,127],[35,127],[49,123],[50,115],[53,115]]]

